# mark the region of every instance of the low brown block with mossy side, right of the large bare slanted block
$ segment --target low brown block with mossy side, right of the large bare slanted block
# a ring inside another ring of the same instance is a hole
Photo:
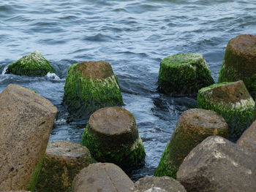
[[[72,181],[94,160],[86,147],[75,142],[49,142],[39,174],[37,192],[71,191]]]

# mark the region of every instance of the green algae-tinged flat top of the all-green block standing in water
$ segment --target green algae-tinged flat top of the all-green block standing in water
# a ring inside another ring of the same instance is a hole
[[[203,56],[198,53],[179,53],[164,58],[162,62],[170,66],[180,66],[181,64],[191,64],[202,59]]]

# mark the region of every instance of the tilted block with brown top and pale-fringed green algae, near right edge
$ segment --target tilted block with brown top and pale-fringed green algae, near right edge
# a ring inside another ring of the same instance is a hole
[[[241,136],[252,124],[255,116],[255,101],[241,80],[200,89],[197,94],[197,107],[222,115],[229,126],[229,139],[232,141]]]

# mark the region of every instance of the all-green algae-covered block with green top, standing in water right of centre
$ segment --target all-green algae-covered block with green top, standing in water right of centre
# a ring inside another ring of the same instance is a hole
[[[159,69],[159,91],[170,96],[195,96],[214,83],[203,56],[181,53],[164,58]]]

